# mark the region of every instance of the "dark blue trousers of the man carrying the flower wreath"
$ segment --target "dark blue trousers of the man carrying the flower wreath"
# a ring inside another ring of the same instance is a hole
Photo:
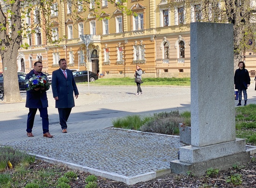
[[[45,134],[49,132],[49,119],[47,108],[38,108],[38,110],[40,111],[40,117],[42,118],[43,134]],[[27,114],[27,132],[32,132],[36,111],[37,108],[29,108],[29,112]]]

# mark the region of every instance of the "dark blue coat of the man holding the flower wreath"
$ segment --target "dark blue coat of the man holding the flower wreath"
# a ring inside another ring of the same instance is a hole
[[[34,71],[30,71],[26,75],[26,80],[31,78],[34,74]],[[45,74],[41,74],[41,76],[45,76]],[[46,90],[30,90],[27,91],[27,99],[26,99],[26,105],[27,108],[47,108],[48,107],[48,99]]]

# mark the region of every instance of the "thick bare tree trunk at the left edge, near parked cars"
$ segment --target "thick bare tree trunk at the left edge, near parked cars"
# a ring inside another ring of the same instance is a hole
[[[10,21],[7,20],[6,12],[0,8],[0,24],[8,30],[0,30],[0,53],[3,63],[4,77],[4,100],[5,103],[22,101],[19,90],[17,75],[17,54],[21,40],[21,16],[20,0],[10,4]]]

